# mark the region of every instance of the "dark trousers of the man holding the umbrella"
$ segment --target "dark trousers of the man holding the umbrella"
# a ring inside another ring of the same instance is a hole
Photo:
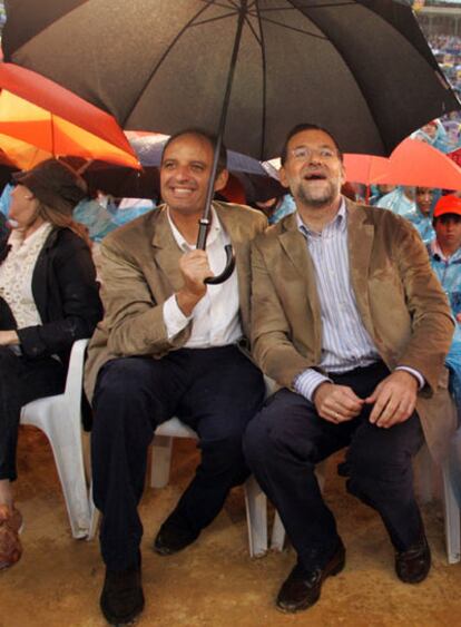
[[[138,561],[147,449],[173,415],[197,431],[202,461],[182,496],[177,525],[199,532],[248,476],[242,438],[264,400],[259,370],[234,345],[182,349],[160,360],[122,357],[99,373],[94,399],[94,498],[101,553],[114,570]]]

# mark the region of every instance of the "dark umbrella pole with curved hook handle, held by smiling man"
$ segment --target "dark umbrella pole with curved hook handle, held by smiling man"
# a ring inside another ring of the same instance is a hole
[[[204,213],[202,215],[202,218],[198,222],[199,227],[198,227],[198,237],[197,237],[197,248],[200,249],[200,251],[205,251],[206,238],[207,238],[208,229],[209,229],[209,225],[210,225],[212,200],[213,200],[213,196],[214,196],[214,192],[215,192],[215,180],[216,180],[216,173],[217,173],[217,166],[218,166],[218,160],[219,160],[219,151],[220,151],[220,148],[223,146],[223,136],[224,136],[224,130],[225,130],[225,127],[226,127],[226,119],[227,119],[227,111],[228,111],[229,100],[230,100],[232,85],[233,85],[233,81],[234,81],[235,66],[237,63],[238,48],[241,46],[242,31],[243,31],[246,13],[247,13],[247,0],[242,0],[239,16],[238,16],[238,23],[237,23],[237,32],[236,32],[236,36],[235,36],[234,49],[233,49],[233,52],[232,52],[229,70],[228,70],[228,74],[227,74],[226,91],[224,94],[223,108],[222,108],[222,111],[220,111],[219,126],[218,126],[218,130],[217,130],[215,151],[214,151],[214,156],[213,156],[212,173],[209,175],[209,180],[208,180],[208,189],[207,189],[207,195],[206,195],[205,208],[204,208]],[[214,277],[205,280],[205,283],[209,283],[209,284],[223,283],[234,272],[235,256],[234,256],[232,246],[230,245],[225,246],[225,251],[226,251],[226,267],[225,267],[224,272],[222,274],[219,274],[218,276],[214,276]]]

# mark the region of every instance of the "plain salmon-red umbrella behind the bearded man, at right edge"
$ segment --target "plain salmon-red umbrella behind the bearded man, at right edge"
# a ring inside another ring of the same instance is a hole
[[[345,154],[344,166],[351,183],[461,189],[461,168],[447,155],[419,139],[404,139],[389,158]]]

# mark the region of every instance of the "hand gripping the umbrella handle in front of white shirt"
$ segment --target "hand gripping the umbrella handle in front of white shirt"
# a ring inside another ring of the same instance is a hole
[[[176,301],[184,315],[189,316],[195,305],[206,294],[205,278],[214,276],[205,251],[190,251],[179,259],[184,287],[176,294]]]

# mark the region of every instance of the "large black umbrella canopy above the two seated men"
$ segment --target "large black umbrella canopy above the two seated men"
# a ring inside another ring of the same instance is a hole
[[[2,46],[126,129],[216,131],[226,98],[226,145],[261,160],[300,121],[389,155],[460,108],[412,9],[392,0],[14,0]]]

